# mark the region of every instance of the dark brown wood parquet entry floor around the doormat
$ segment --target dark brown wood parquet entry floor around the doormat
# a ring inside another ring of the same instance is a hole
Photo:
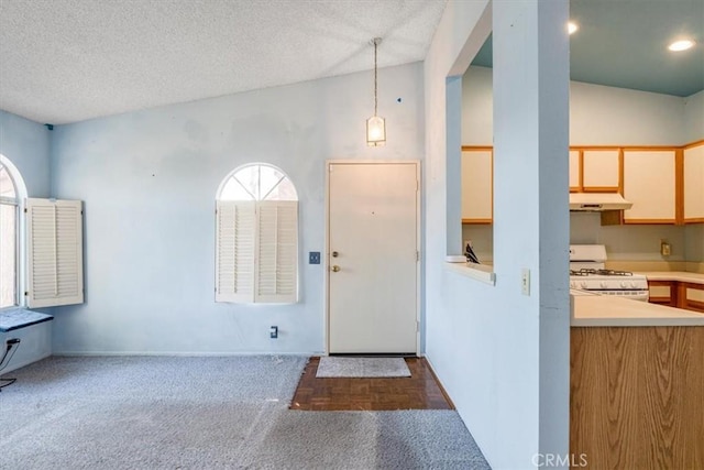
[[[409,378],[317,379],[320,358],[310,358],[290,409],[454,409],[425,358],[405,358]]]

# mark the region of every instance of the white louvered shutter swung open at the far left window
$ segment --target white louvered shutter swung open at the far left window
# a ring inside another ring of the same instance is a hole
[[[80,200],[26,200],[29,307],[84,302]]]

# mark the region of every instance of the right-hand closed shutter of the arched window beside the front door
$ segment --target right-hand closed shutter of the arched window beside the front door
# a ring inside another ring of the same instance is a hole
[[[255,302],[298,299],[298,203],[257,204],[257,275]]]

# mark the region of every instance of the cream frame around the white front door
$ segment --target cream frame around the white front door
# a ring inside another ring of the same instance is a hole
[[[324,214],[324,225],[326,225],[326,241],[324,241],[324,252],[323,252],[323,262],[322,267],[324,270],[326,275],[323,276],[323,345],[324,345],[324,356],[330,354],[330,167],[336,164],[359,164],[359,165],[373,165],[373,164],[386,164],[386,165],[398,165],[398,164],[413,164],[416,166],[416,252],[418,253],[418,260],[416,261],[416,356],[420,357],[420,330],[422,324],[420,323],[420,266],[422,260],[422,253],[420,251],[420,189],[421,189],[421,179],[420,179],[420,160],[364,160],[364,159],[342,159],[342,160],[327,160],[326,161],[326,214]]]

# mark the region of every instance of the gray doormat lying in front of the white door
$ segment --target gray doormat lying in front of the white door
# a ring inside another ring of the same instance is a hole
[[[337,358],[323,356],[316,378],[410,376],[404,358]]]

